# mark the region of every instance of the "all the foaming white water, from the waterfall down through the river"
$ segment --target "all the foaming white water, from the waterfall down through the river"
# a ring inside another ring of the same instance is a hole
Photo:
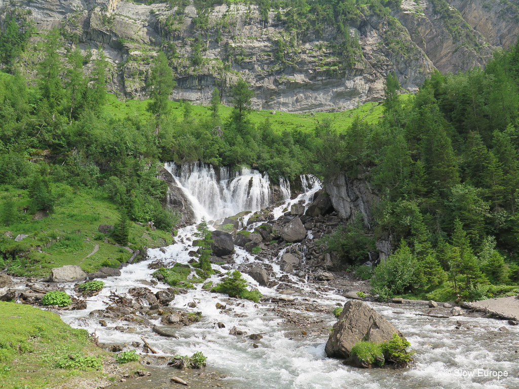
[[[182,186],[184,193],[194,203],[198,218],[205,216],[216,220],[243,210],[259,210],[268,204],[271,190],[269,179],[258,172],[221,171],[220,177],[216,177],[214,170],[209,166],[197,165],[191,170],[183,170],[179,176],[175,166],[167,167],[177,180],[177,184]],[[282,214],[287,205],[301,199],[308,202],[313,193],[320,188],[320,183],[315,177],[304,176],[302,181],[305,193],[290,200],[288,182],[282,180],[282,192],[286,193],[286,201],[275,209],[276,217]],[[344,366],[338,359],[327,358],[324,353],[327,337],[309,332],[301,340],[290,339],[283,319],[271,310],[276,305],[268,302],[256,305],[247,300],[228,299],[227,296],[201,290],[202,284],[195,284],[198,289],[187,294],[176,295],[170,304],[185,311],[202,312],[199,323],[179,328],[175,332],[179,339],[161,337],[154,334],[151,328],[136,323],[106,319],[108,326],[101,327],[98,323],[99,318],[88,316],[92,310],[107,307],[103,300],[106,301],[110,291],[120,295],[131,287],[143,286],[155,293],[168,287],[160,283],[155,287],[143,283],[152,279],[151,274],[154,271],[148,269],[147,265],[156,259],[187,263],[191,259],[188,251],[192,249],[190,242],[193,240],[194,231],[193,226],[181,229],[175,238],[177,243],[166,247],[166,253],[159,249],[150,249],[150,259],[123,268],[119,277],[103,280],[105,288],[98,296],[89,298],[94,301],[88,302],[88,308],[83,311],[61,311],[63,321],[76,328],[85,328],[89,332],[97,331],[99,341],[103,343],[129,345],[132,341],[142,342],[141,336],[144,336],[152,347],[159,351],[159,355],[192,355],[196,351],[201,351],[208,357],[208,366],[228,374],[226,384],[235,388],[519,388],[519,330],[508,326],[510,332],[500,332],[498,328],[505,323],[495,319],[459,316],[448,319],[431,318],[415,316],[413,313],[416,311],[411,309],[399,309],[398,311],[405,313],[395,314],[391,308],[384,305],[371,304],[411,342],[411,349],[416,350],[416,364],[405,370],[366,370]],[[236,268],[240,263],[254,261],[254,255],[236,247],[236,265],[231,266]],[[271,262],[275,273],[272,276],[282,275],[277,260],[273,259]],[[217,265],[213,265],[213,268],[225,272]],[[264,296],[281,296],[275,289],[258,286],[248,275],[244,274],[244,277]],[[308,291],[306,295],[290,296],[295,298],[296,304],[298,300],[310,297],[312,301],[328,305],[331,311],[337,302],[344,304],[347,301],[346,298],[332,293],[312,294],[312,284],[303,282],[293,275],[290,277],[299,288]],[[210,280],[216,283],[218,278],[213,275]],[[72,289],[67,291],[73,293]],[[196,302],[197,307],[188,308],[189,302]],[[226,304],[233,310],[230,313],[217,310],[216,302]],[[328,327],[332,327],[336,321],[332,314],[306,314],[323,320]],[[467,322],[473,329],[454,329],[459,319]],[[223,322],[225,328],[218,328],[218,322]],[[154,323],[160,325],[159,320]],[[120,332],[115,326],[134,327],[135,332]],[[260,347],[253,348],[254,341],[247,336],[229,335],[229,329],[235,326],[247,331],[248,334],[264,333],[263,339],[256,341]],[[128,346],[127,349],[133,348]],[[484,376],[493,374],[493,371],[506,371],[508,376],[499,379]]]

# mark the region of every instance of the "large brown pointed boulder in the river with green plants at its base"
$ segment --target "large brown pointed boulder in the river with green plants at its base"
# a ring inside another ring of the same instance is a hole
[[[393,334],[405,339],[402,332],[369,305],[352,300],[344,304],[343,313],[333,325],[324,351],[329,357],[349,358],[355,343],[361,340],[386,342],[391,340]]]

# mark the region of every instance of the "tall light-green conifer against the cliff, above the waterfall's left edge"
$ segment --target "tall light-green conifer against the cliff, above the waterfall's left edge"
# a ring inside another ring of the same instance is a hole
[[[146,82],[146,88],[151,102],[147,110],[155,116],[155,135],[158,135],[163,119],[170,112],[169,96],[175,88],[173,71],[168,64],[166,54],[160,52],[152,64],[152,69]]]

